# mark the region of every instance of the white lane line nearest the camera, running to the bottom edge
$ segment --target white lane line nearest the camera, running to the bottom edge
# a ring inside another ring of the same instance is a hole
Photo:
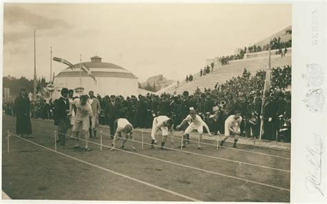
[[[172,190],[168,190],[168,189],[166,189],[166,188],[164,188],[164,187],[159,187],[159,186],[157,186],[157,185],[153,185],[153,184],[148,183],[148,182],[146,182],[146,181],[141,181],[141,180],[139,180],[139,179],[135,179],[135,178],[133,178],[133,177],[126,176],[126,175],[124,175],[124,174],[121,174],[121,173],[118,173],[118,172],[114,172],[114,171],[112,171],[112,170],[108,170],[108,169],[106,169],[105,167],[101,167],[101,166],[99,166],[99,165],[95,165],[95,164],[89,163],[89,162],[87,162],[87,161],[83,161],[83,160],[81,160],[81,159],[77,159],[77,158],[75,158],[74,156],[69,156],[68,154],[64,154],[64,153],[62,153],[62,152],[57,152],[57,151],[55,151],[55,150],[50,149],[49,147],[44,147],[43,145],[39,145],[38,143],[34,143],[34,142],[29,141],[29,140],[27,140],[27,139],[23,139],[23,138],[21,138],[20,136],[17,136],[17,135],[15,135],[15,134],[12,134],[12,133],[10,133],[10,134],[13,135],[13,136],[18,137],[19,139],[22,139],[22,140],[24,140],[24,141],[27,141],[27,142],[29,142],[29,143],[32,143],[32,144],[37,145],[37,146],[39,146],[39,147],[42,147],[42,148],[44,148],[44,149],[46,149],[46,150],[50,150],[51,152],[55,152],[55,153],[57,153],[57,154],[61,154],[62,156],[66,156],[66,157],[68,157],[68,158],[70,158],[70,159],[74,159],[74,160],[79,161],[79,162],[81,162],[81,163],[85,163],[85,164],[87,164],[87,165],[91,165],[91,166],[93,166],[93,167],[97,167],[97,168],[99,168],[99,169],[101,169],[101,170],[104,170],[104,171],[106,171],[106,172],[110,172],[110,173],[112,173],[112,174],[116,174],[117,176],[121,176],[121,177],[123,177],[123,178],[130,179],[130,180],[132,180],[132,181],[136,181],[136,182],[141,183],[141,184],[143,184],[143,185],[148,185],[148,186],[150,186],[150,187],[154,187],[154,188],[156,188],[156,189],[158,189],[158,190],[161,190],[161,191],[164,191],[164,192],[168,192],[168,193],[170,193],[170,194],[173,194],[173,195],[175,195],[175,196],[179,196],[179,197],[181,197],[181,198],[186,198],[186,199],[188,199],[188,200],[190,200],[190,201],[200,201],[200,200],[198,200],[198,199],[196,199],[196,198],[191,198],[190,196],[186,196],[186,195],[183,195],[183,194],[179,194],[179,193],[174,192],[174,191],[172,191]]]

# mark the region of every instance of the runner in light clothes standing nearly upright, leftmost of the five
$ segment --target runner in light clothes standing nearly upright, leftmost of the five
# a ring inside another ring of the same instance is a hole
[[[91,149],[88,147],[89,128],[91,119],[91,128],[95,128],[95,119],[92,113],[92,107],[88,101],[88,96],[81,95],[80,99],[75,99],[72,104],[70,104],[70,115],[72,115],[72,109],[76,107],[76,115],[74,125],[72,126],[72,133],[75,136],[76,145],[74,148],[79,148],[79,132],[82,129],[86,140],[85,150],[88,152]]]

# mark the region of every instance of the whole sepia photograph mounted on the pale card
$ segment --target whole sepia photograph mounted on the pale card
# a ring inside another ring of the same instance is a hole
[[[290,203],[292,17],[3,3],[2,199]]]

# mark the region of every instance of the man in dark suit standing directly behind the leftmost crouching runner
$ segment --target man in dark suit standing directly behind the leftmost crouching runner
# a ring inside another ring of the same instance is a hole
[[[116,96],[110,96],[110,102],[107,103],[106,108],[104,109],[104,113],[108,117],[108,124],[110,126],[110,138],[114,138],[114,124],[115,120],[119,118],[119,114],[121,113],[121,104],[116,101]]]

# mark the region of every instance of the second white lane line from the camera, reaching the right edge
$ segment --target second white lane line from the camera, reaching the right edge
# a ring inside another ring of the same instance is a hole
[[[66,134],[64,134],[64,135],[66,135]],[[76,138],[76,137],[75,137],[75,138]],[[86,141],[86,140],[83,140],[83,139],[81,139],[81,140],[82,140],[82,141]],[[88,142],[90,142],[90,141],[88,141]],[[95,143],[95,142],[92,142],[92,141],[91,141],[90,143],[93,143],[93,144],[95,144],[95,145],[101,145],[101,144],[99,144],[99,143]],[[111,147],[108,146],[108,145],[102,145],[102,146],[103,146],[103,147],[109,147],[109,148],[111,148]],[[209,173],[209,174],[216,174],[216,175],[219,175],[219,176],[225,176],[225,177],[228,177],[228,178],[231,178],[231,179],[237,179],[237,180],[240,180],[240,181],[246,181],[246,182],[255,183],[255,184],[258,184],[258,185],[264,185],[264,186],[267,186],[267,187],[273,187],[273,188],[278,189],[278,190],[286,190],[286,191],[290,192],[290,190],[288,190],[288,189],[286,189],[286,188],[284,188],[284,187],[277,187],[277,186],[275,186],[275,185],[269,185],[269,184],[266,184],[266,183],[261,183],[261,182],[257,182],[257,181],[251,181],[251,180],[248,180],[248,179],[241,179],[241,178],[236,177],[236,176],[230,176],[230,175],[227,175],[227,174],[222,174],[222,173],[218,173],[218,172],[212,172],[212,171],[210,171],[210,170],[204,170],[204,169],[201,169],[201,168],[198,168],[198,167],[192,167],[192,166],[189,166],[189,165],[184,165],[184,164],[180,164],[180,163],[175,163],[175,162],[172,162],[172,161],[166,161],[166,160],[164,160],[164,159],[158,159],[158,158],[155,158],[155,157],[152,157],[152,156],[146,156],[146,155],[138,154],[138,153],[135,153],[135,152],[128,152],[128,151],[126,151],[126,150],[121,150],[121,149],[117,149],[117,148],[115,148],[115,150],[119,150],[119,151],[121,151],[121,152],[126,152],[126,153],[128,153],[128,154],[135,154],[135,155],[137,155],[137,156],[143,156],[143,157],[148,158],[148,159],[153,159],[153,160],[157,160],[157,161],[162,161],[162,162],[170,163],[170,164],[173,164],[173,165],[179,165],[179,166],[181,166],[181,167],[187,167],[187,168],[189,168],[189,169],[192,169],[192,170],[198,170],[198,171],[200,171],[200,172],[206,172],[206,173]],[[192,153],[192,152],[190,152],[190,153]]]

